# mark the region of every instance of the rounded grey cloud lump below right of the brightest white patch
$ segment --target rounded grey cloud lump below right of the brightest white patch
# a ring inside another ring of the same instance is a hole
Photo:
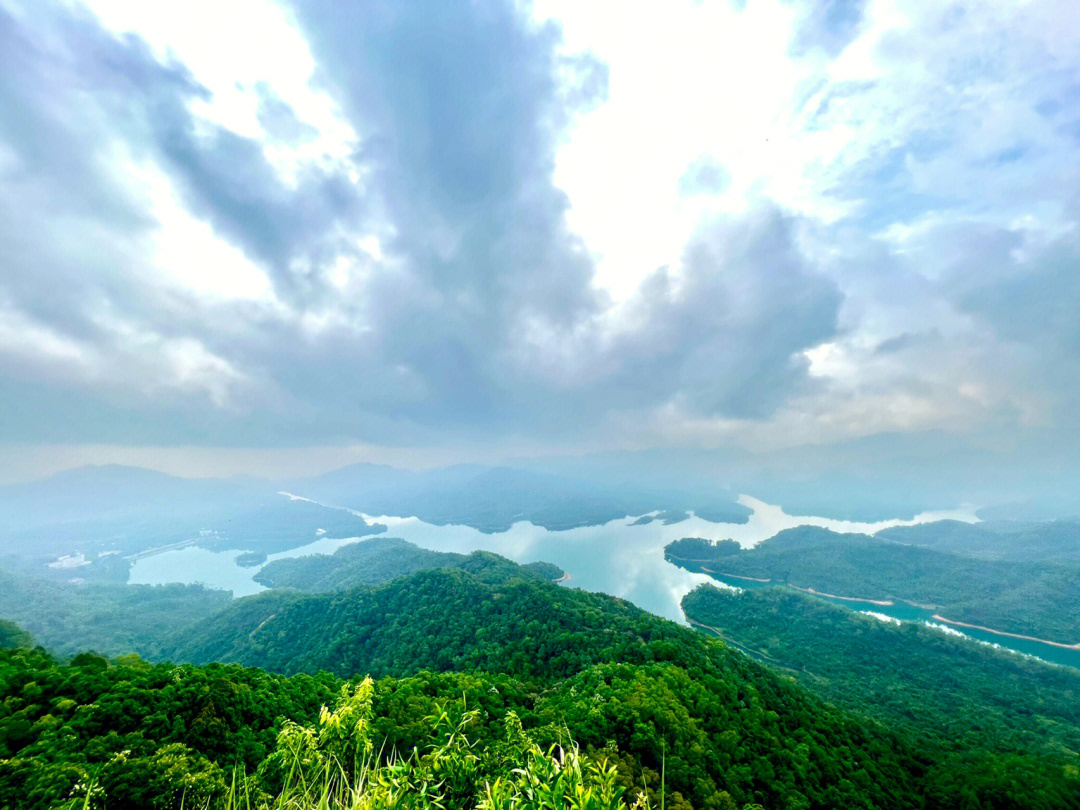
[[[758,418],[798,390],[800,352],[836,334],[842,297],[804,258],[794,227],[774,210],[728,220],[689,245],[679,274],[654,273],[635,305],[642,327],[616,349],[620,394]]]

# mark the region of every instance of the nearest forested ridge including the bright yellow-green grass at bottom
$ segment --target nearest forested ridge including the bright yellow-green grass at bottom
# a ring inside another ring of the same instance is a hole
[[[1030,716],[1008,744],[946,748],[896,721],[917,692],[870,716],[549,568],[444,562],[269,591],[171,637],[150,622],[158,663],[0,625],[0,808],[1080,808],[1058,684],[1013,693],[1000,728]],[[1048,721],[1061,751],[1036,744]]]

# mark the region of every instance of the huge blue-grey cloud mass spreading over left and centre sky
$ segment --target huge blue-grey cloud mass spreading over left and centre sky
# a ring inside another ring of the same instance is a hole
[[[542,441],[672,402],[765,417],[806,386],[799,353],[835,334],[840,295],[779,212],[702,232],[617,314],[595,289],[552,173],[606,70],[559,54],[555,28],[494,0],[297,12],[360,134],[362,185],[322,166],[286,181],[260,143],[197,120],[190,102],[207,91],[137,39],[48,4],[0,18],[0,100],[18,112],[0,122],[18,166],[0,181],[12,261],[0,316],[8,307],[97,363],[79,376],[4,361],[4,396],[21,403],[5,437]],[[259,94],[271,138],[308,136]],[[118,141],[266,269],[284,314],[162,291],[143,253],[157,222],[110,163]],[[354,244],[372,218],[393,234],[386,260]],[[342,257],[356,280],[332,287]]]

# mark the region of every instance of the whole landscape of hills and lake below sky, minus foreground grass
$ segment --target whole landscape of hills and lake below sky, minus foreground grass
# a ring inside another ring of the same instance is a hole
[[[513,716],[517,756],[566,731],[583,756],[608,746],[615,770],[588,784],[646,801],[1080,795],[1080,523],[964,510],[856,523],[510,468],[356,465],[284,486],[106,467],[0,488],[16,527],[0,559],[0,796],[78,805],[73,785],[92,780],[109,807],[138,807],[172,779],[195,801],[233,801],[237,768],[245,795],[284,796],[302,774],[269,764],[286,721],[323,739],[321,705],[363,711],[400,756],[462,756],[405,694],[456,705],[444,711],[470,745]],[[367,697],[352,691],[365,675]],[[172,696],[181,676],[201,686]],[[594,701],[631,687],[642,702],[622,705],[644,714],[597,725]],[[158,701],[173,720],[145,714]],[[698,758],[692,729],[727,753]],[[150,782],[125,781],[106,732]],[[854,758],[834,760],[836,745]],[[873,787],[855,779],[882,767]]]

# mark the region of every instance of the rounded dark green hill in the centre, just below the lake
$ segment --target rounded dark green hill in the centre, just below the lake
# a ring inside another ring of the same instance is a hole
[[[715,667],[731,653],[605,594],[530,578],[421,571],[332,594],[271,591],[194,625],[173,657],[349,676],[419,670],[566,677],[595,663]]]

